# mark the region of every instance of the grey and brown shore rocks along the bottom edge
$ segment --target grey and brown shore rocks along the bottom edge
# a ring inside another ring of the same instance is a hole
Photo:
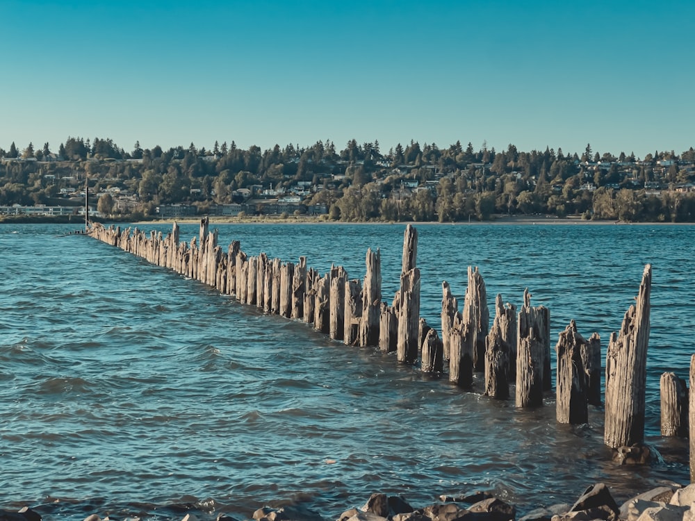
[[[43,521],[36,509],[0,509],[0,521]],[[329,521],[320,513],[301,505],[263,507],[254,512],[254,521]],[[158,516],[158,519],[161,519]],[[226,513],[210,515],[215,521],[242,521]],[[186,513],[172,521],[207,521],[200,513]],[[695,521],[695,484],[685,487],[660,486],[619,505],[604,483],[596,483],[574,504],[555,504],[537,508],[517,518],[516,507],[489,493],[475,492],[461,497],[440,496],[439,502],[415,508],[403,497],[375,493],[366,504],[350,508],[335,521]],[[47,518],[45,521],[50,521]],[[84,521],[140,521],[139,517],[109,518],[93,513]]]

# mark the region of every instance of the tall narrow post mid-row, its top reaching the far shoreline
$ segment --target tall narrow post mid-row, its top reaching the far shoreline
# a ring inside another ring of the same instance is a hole
[[[420,322],[420,270],[416,267],[418,231],[411,225],[403,238],[400,301],[398,305],[399,362],[415,363],[418,359],[418,325]]]

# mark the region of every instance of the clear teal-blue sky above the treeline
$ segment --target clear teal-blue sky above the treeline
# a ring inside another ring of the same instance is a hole
[[[695,147],[695,2],[0,0],[0,147]]]

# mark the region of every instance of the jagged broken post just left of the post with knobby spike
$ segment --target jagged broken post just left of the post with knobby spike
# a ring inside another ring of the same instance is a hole
[[[516,315],[509,320],[509,310],[502,304],[498,293],[495,301],[495,320],[485,338],[485,394],[497,399],[509,398],[509,326],[514,325],[516,338]],[[512,312],[512,314],[514,314]]]

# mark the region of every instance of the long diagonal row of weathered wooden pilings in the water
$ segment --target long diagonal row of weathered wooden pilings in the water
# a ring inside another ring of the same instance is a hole
[[[197,279],[242,304],[265,313],[281,315],[327,333],[346,345],[379,347],[396,352],[399,362],[420,364],[423,372],[448,373],[462,388],[472,388],[474,372],[484,372],[484,394],[509,397],[514,381],[518,407],[543,404],[552,390],[550,372],[550,312],[531,306],[525,290],[517,310],[497,295],[495,317],[489,326],[489,308],[482,275],[468,267],[468,288],[459,311],[449,284],[442,284],[441,338],[420,318],[420,270],[416,267],[418,234],[408,225],[404,233],[400,290],[391,305],[382,301],[379,249],[368,249],[363,281],[349,279],[343,267],[333,266],[320,275],[299,263],[284,263],[265,254],[247,256],[238,241],[225,254],[218,245],[218,231],[208,231],[208,219],[200,223],[199,236],[190,243],[179,240],[179,226],[163,236],[120,227],[95,225],[90,235],[115,247]],[[644,442],[646,349],[649,336],[651,265],[646,265],[636,303],[628,309],[621,330],[612,333],[605,367],[605,444],[612,449]],[[601,402],[600,337],[585,340],[574,321],[559,333],[557,353],[557,421],[588,421],[589,405]],[[447,371],[445,371],[445,364]],[[695,355],[691,375],[695,371]],[[691,376],[691,388],[694,388]],[[695,434],[688,426],[688,394],[685,383],[672,373],[662,376],[662,433]],[[693,397],[689,398],[691,401]],[[690,407],[695,411],[695,405]],[[695,451],[691,449],[691,454]],[[691,469],[695,468],[691,462]]]

